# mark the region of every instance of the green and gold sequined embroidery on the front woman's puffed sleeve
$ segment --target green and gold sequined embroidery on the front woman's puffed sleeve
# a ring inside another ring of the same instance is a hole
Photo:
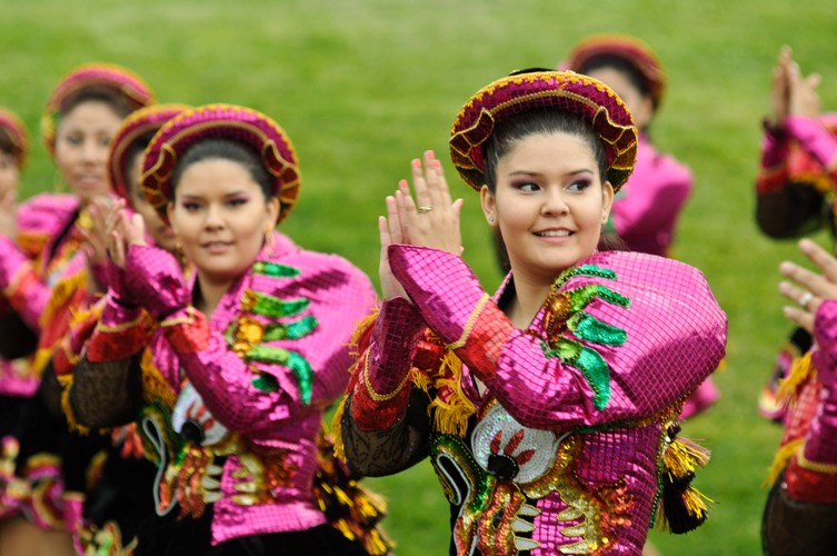
[[[594,390],[596,408],[604,409],[610,399],[610,368],[595,349],[567,337],[566,332],[570,331],[577,338],[590,344],[621,346],[627,339],[624,329],[602,322],[592,315],[585,312],[584,309],[595,299],[601,299],[620,307],[629,307],[630,300],[599,284],[560,290],[575,276],[616,279],[616,272],[596,265],[582,265],[561,272],[552,284],[545,304],[544,328],[546,339],[541,341],[541,349],[547,357],[558,357],[561,363],[579,369]]]

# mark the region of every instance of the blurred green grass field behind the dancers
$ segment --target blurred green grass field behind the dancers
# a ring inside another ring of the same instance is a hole
[[[715,508],[692,534],[651,538],[662,554],[750,555],[760,552],[763,479],[779,438],[758,417],[756,397],[790,328],[776,267],[800,259],[793,241],[768,240],[754,224],[759,121],[784,43],[804,70],[824,73],[824,105],[837,109],[835,23],[821,0],[4,2],[0,105],[33,135],[22,197],[56,183],[37,126],[51,88],[78,63],[126,64],[160,101],[261,110],[301,159],[302,195],[283,230],[377,281],[383,197],[424,149],[447,160],[450,123],[474,91],[509,70],[557,63],[588,33],[642,37],[669,75],[655,140],[697,183],[677,254],[704,270],[729,316],[727,367],[716,378],[723,398],[685,427],[714,450],[698,483]],[[449,181],[467,199],[465,257],[492,290],[500,276],[477,198],[452,170]],[[429,465],[369,483],[389,497],[398,554],[445,553],[447,506]]]

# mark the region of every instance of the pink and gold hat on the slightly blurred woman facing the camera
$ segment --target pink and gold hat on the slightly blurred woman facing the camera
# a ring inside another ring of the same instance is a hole
[[[142,192],[163,219],[171,200],[171,175],[178,160],[202,139],[232,139],[249,145],[273,178],[281,222],[297,202],[300,175],[288,135],[267,116],[233,105],[209,105],[186,110],[169,120],[151,140],[142,161]]]

